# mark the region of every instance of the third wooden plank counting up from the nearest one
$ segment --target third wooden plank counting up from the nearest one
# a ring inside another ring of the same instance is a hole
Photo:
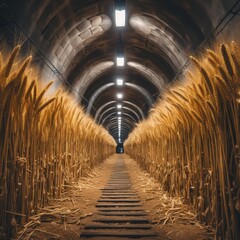
[[[96,218],[92,220],[93,222],[102,222],[102,223],[149,223],[149,220],[147,218],[134,218],[134,217],[117,217],[114,218],[113,216],[105,217],[105,218]]]

